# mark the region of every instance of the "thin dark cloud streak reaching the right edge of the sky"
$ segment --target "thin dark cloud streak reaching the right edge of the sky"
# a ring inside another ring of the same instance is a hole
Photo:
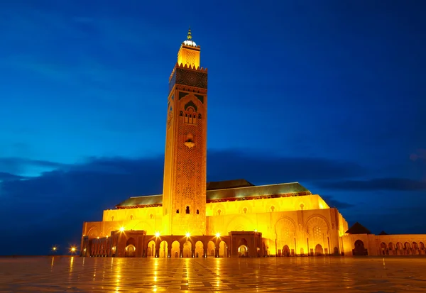
[[[343,180],[332,182],[317,182],[318,187],[324,189],[375,191],[393,190],[415,192],[426,190],[426,182],[408,178],[378,178],[368,180]]]

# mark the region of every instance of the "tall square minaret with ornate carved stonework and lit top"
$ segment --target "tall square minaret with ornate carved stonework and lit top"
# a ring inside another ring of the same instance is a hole
[[[169,79],[163,181],[163,235],[206,231],[207,69],[200,46],[180,45]]]

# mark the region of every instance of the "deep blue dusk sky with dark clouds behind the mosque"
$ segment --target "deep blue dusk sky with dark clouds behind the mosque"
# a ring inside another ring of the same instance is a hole
[[[0,255],[62,253],[160,194],[168,78],[209,69],[207,180],[300,182],[373,233],[426,233],[426,2],[0,4]]]

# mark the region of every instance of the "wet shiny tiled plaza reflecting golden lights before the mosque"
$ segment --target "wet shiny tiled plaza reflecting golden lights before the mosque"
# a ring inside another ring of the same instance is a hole
[[[426,292],[426,258],[0,258],[0,292]]]

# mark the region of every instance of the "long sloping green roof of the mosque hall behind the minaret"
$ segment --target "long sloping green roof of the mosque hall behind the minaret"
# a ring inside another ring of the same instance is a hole
[[[247,182],[244,179],[231,180],[220,184],[220,182],[214,182],[214,187],[219,186],[229,186],[236,183]],[[229,184],[231,182],[231,184]],[[251,184],[250,182],[247,182]],[[244,183],[246,184],[246,183]],[[209,183],[207,183],[207,186]],[[311,192],[302,187],[298,182],[293,183],[281,183],[281,184],[271,184],[271,185],[261,185],[261,186],[246,186],[246,187],[236,187],[236,188],[224,188],[224,189],[213,189],[207,190],[206,192],[206,202],[215,202],[215,201],[236,201],[244,199],[261,199],[268,197],[296,197],[300,195],[310,195]],[[117,209],[126,209],[134,207],[148,207],[148,206],[161,206],[163,204],[163,195],[149,195],[142,197],[129,197],[125,201],[122,201],[120,204],[116,205]]]

